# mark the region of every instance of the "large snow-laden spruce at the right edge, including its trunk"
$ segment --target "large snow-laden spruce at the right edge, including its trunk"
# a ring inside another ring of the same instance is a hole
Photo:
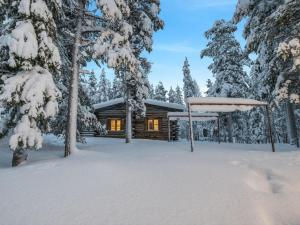
[[[299,1],[296,0],[249,0],[239,1],[234,15],[235,22],[247,18],[244,29],[246,48],[249,53],[257,55],[260,66],[257,93],[268,102],[286,101],[287,127],[292,144],[297,141],[297,133],[291,104],[298,98],[299,74],[292,69],[292,57],[283,60],[280,56],[287,59],[288,43],[299,33],[299,26],[295,25],[298,24],[298,14]]]

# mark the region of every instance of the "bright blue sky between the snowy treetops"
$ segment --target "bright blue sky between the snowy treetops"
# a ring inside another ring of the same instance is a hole
[[[149,80],[156,85],[162,81],[166,88],[182,86],[182,65],[185,57],[191,65],[191,74],[202,91],[206,80],[212,78],[207,69],[210,60],[200,58],[207,40],[204,32],[217,19],[230,20],[237,0],[161,0],[161,18],[165,28],[154,36],[153,51],[147,58],[153,63]],[[241,29],[237,38],[243,43]],[[100,69],[96,69],[100,73]],[[113,79],[113,73],[108,71]]]

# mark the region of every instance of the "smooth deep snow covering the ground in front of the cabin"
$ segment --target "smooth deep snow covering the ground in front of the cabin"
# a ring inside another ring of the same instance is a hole
[[[1,225],[299,225],[300,152],[269,145],[89,138],[63,159],[53,137],[9,168]]]

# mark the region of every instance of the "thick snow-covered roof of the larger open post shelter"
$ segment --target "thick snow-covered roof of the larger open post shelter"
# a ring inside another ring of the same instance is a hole
[[[234,112],[247,111],[256,106],[266,106],[266,102],[244,98],[199,97],[188,98],[192,111],[197,112]]]

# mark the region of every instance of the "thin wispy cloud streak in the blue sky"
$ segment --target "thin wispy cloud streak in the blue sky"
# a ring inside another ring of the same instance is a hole
[[[165,51],[172,53],[197,53],[199,49],[188,46],[185,43],[157,44],[154,46],[155,51]]]

